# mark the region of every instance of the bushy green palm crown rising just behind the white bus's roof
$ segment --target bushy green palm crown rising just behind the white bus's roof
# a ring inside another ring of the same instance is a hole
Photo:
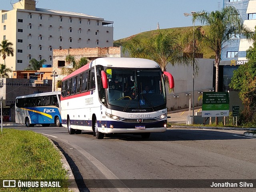
[[[189,65],[191,58],[184,55],[182,43],[178,32],[159,32],[146,42],[133,39],[132,43],[124,44],[123,53],[129,52],[130,57],[151,59],[156,61],[162,71],[166,71],[166,65]]]

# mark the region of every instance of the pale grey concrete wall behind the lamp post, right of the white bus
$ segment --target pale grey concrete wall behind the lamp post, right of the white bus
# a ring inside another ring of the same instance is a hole
[[[198,101],[200,93],[198,91],[209,91],[212,89],[212,74],[213,74],[214,59],[198,59],[199,71],[194,77],[194,106],[202,105],[202,101]],[[167,107],[168,111],[188,108],[189,99],[192,105],[193,92],[193,68],[192,66],[181,66],[171,64],[167,65],[167,71],[174,77],[174,92],[167,92]],[[195,70],[196,71],[196,70]],[[186,96],[186,93],[188,96]],[[174,98],[174,95],[179,97]]]

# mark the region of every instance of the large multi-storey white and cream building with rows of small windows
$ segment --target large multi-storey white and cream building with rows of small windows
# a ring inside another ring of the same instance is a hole
[[[13,10],[0,13],[0,41],[12,42],[15,50],[14,57],[6,57],[6,67],[13,71],[28,67],[32,58],[52,64],[53,49],[113,46],[114,22],[103,18],[36,8],[35,0],[20,0]]]

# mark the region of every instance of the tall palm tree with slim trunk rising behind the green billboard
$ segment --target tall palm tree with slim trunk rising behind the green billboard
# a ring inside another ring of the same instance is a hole
[[[212,12],[196,12],[193,21],[199,21],[206,25],[206,31],[202,33],[202,43],[215,52],[216,82],[215,90],[218,92],[220,53],[224,46],[234,41],[232,34],[243,35],[250,38],[252,35],[242,22],[238,10],[233,6],[226,6],[221,10]],[[216,117],[218,125],[218,117]]]

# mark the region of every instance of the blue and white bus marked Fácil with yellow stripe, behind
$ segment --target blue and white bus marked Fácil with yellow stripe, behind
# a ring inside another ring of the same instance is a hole
[[[36,124],[43,127],[56,124],[60,127],[60,91],[16,97],[15,122],[26,124],[26,127]]]

